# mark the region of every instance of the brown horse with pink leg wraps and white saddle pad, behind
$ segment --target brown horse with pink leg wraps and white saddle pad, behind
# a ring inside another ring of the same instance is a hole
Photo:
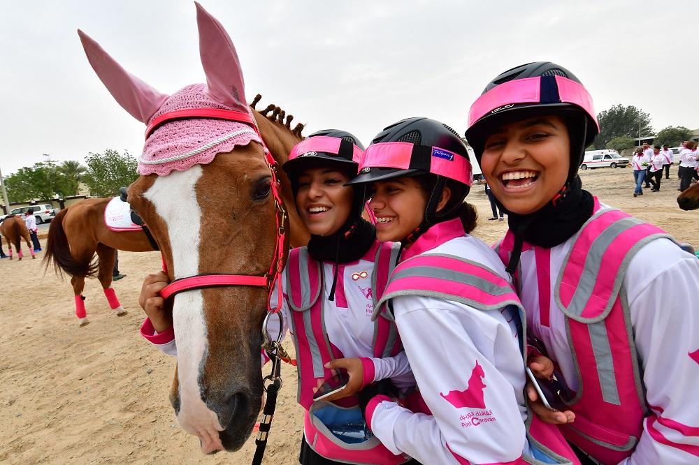
[[[43,260],[53,262],[57,274],[71,276],[75,294],[75,314],[80,326],[89,323],[85,310],[85,278],[97,276],[110,309],[117,316],[127,311],[112,288],[112,270],[117,250],[147,252],[154,250],[143,231],[116,232],[104,223],[104,209],[111,198],[89,198],[63,209],[51,221]],[[97,261],[94,255],[97,254]]]

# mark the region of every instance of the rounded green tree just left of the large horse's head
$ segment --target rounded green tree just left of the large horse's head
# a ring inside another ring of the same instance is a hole
[[[138,161],[126,150],[123,155],[112,149],[106,149],[102,154],[90,152],[85,163],[87,170],[82,180],[90,193],[97,197],[118,195],[120,187],[128,186],[138,178]]]

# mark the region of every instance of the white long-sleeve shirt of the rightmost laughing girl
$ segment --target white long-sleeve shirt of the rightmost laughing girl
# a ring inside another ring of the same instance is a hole
[[[572,242],[571,238],[550,249],[548,270],[537,267],[535,247],[521,254],[521,302],[528,329],[544,342],[575,391],[577,376],[565,318],[554,299],[556,279]],[[542,273],[548,273],[550,293],[540,299]],[[699,463],[698,282],[699,260],[668,239],[643,246],[624,276],[646,399],[658,415],[656,421],[646,418],[640,441],[633,455],[621,462],[624,465]],[[550,302],[549,307],[542,308],[542,300]],[[542,313],[546,313],[543,319]]]

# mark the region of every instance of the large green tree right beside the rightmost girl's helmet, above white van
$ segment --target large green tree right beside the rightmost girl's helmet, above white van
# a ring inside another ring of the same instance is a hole
[[[653,133],[650,115],[633,105],[614,105],[599,112],[597,121],[600,124],[600,135],[595,140],[597,149],[606,148],[607,142],[621,135],[633,139]]]

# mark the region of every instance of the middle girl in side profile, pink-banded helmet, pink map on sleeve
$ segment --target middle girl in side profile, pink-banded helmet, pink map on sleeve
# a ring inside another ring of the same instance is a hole
[[[472,182],[459,136],[410,118],[374,138],[350,183],[370,189],[377,238],[401,243],[375,317],[395,319],[429,412],[376,385],[359,393],[367,423],[423,464],[577,464],[559,431],[528,411],[521,304],[496,253],[468,234]]]

